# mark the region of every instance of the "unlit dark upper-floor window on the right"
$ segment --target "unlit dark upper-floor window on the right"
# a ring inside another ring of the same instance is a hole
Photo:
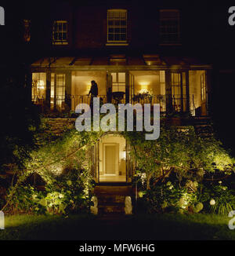
[[[160,43],[166,45],[180,43],[179,10],[160,10]]]

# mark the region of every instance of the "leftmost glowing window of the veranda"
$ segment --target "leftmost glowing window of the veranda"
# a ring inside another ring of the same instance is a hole
[[[43,104],[45,101],[46,91],[46,74],[33,73],[32,74],[32,101],[34,104]]]

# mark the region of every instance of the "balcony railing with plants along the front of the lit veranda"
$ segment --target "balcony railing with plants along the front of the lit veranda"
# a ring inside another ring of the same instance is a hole
[[[114,95],[112,95],[114,94]],[[126,98],[125,93],[122,93],[122,97],[117,97],[117,93],[111,93],[111,95],[98,95],[100,106],[105,103],[112,104],[125,104]],[[160,104],[160,111],[162,114],[166,112],[172,113],[183,113],[186,112],[186,95],[181,97],[180,95],[162,95],[162,94],[149,94],[149,93],[137,93],[129,95],[129,103],[131,104]],[[66,94],[57,95],[56,97],[51,97],[50,102],[46,101],[45,97],[33,97],[32,103],[38,105],[40,112],[45,115],[50,113],[53,115],[63,115],[65,113],[75,112],[78,104],[91,104],[91,97],[88,95],[70,95]],[[193,97],[190,97],[190,104],[193,106]],[[169,109],[168,109],[169,108]],[[193,113],[195,108],[190,109]]]

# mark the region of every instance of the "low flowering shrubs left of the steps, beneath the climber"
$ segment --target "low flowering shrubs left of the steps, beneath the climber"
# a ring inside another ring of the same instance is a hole
[[[70,170],[52,178],[45,191],[31,185],[19,185],[5,211],[27,214],[69,214],[88,212],[92,197],[92,182],[85,170]],[[9,192],[10,194],[10,192]]]

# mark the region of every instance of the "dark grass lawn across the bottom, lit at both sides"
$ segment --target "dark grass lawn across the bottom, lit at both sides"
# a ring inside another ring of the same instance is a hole
[[[5,217],[0,240],[235,240],[230,218],[213,214]]]

